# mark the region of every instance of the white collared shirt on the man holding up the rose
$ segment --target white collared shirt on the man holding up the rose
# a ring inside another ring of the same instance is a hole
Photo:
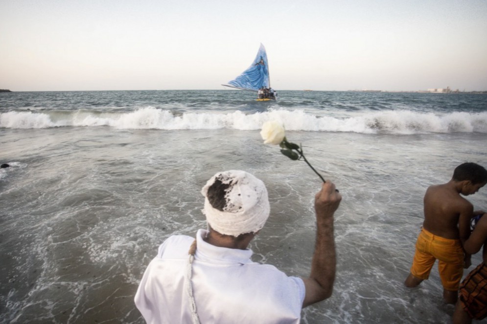
[[[192,265],[193,295],[202,324],[300,323],[305,289],[301,278],[251,261],[252,250],[211,245],[198,230]],[[135,303],[145,321],[192,323],[186,263],[194,238],[168,238],[145,270]]]

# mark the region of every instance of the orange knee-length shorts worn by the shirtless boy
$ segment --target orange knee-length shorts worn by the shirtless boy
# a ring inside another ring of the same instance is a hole
[[[457,291],[464,274],[462,243],[459,239],[442,238],[421,228],[411,273],[419,279],[428,279],[436,259],[443,288]]]

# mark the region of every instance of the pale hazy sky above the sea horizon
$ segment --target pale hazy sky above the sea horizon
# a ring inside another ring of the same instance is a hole
[[[487,90],[487,0],[0,0],[0,89]]]

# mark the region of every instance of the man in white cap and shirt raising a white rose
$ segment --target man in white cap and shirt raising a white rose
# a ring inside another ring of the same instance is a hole
[[[208,230],[167,238],[135,295],[147,323],[300,323],[301,308],[329,298],[335,279],[334,213],[342,196],[326,182],[315,196],[316,245],[309,278],[251,260],[249,243],[270,204],[245,171],[216,173],[203,187]]]

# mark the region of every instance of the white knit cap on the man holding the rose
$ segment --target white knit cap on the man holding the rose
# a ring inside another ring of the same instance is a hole
[[[226,189],[225,207],[220,211],[211,206],[208,188],[220,180],[230,185]],[[220,234],[234,237],[259,231],[269,217],[270,205],[264,183],[245,171],[230,170],[219,172],[208,180],[201,190],[205,196],[205,214],[211,228]]]

